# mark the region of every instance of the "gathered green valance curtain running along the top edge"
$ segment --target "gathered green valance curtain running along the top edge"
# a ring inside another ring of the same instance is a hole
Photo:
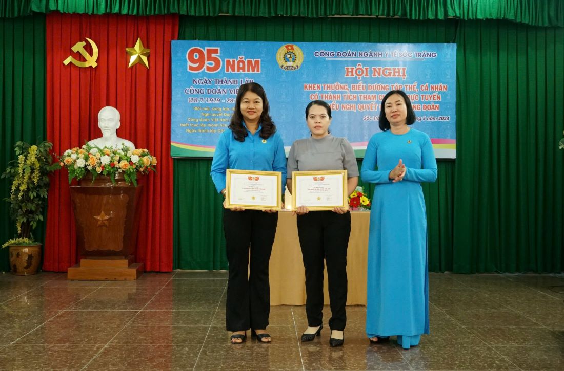
[[[0,0],[0,16],[30,12],[188,16],[382,16],[412,20],[506,19],[564,26],[562,0]]]

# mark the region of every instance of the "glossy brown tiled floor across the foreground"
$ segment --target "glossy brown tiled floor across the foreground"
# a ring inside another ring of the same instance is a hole
[[[362,306],[347,307],[340,348],[328,329],[299,342],[296,306],[272,307],[271,344],[231,345],[226,284],[226,272],[0,275],[0,369],[564,370],[564,275],[430,274],[431,334],[411,350],[369,345]]]

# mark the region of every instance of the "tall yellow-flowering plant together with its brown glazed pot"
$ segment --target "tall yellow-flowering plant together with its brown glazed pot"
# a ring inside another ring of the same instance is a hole
[[[39,145],[17,142],[14,146],[17,159],[8,163],[2,178],[12,182],[10,217],[16,222],[17,236],[8,240],[2,248],[10,247],[12,274],[36,274],[41,261],[41,243],[33,240],[32,231],[43,220],[43,207],[49,191],[49,174],[59,168],[52,163],[53,145],[43,141]]]

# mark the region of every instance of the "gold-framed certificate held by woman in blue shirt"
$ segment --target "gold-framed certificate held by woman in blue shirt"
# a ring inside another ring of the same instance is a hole
[[[227,169],[225,208],[282,209],[282,173]]]

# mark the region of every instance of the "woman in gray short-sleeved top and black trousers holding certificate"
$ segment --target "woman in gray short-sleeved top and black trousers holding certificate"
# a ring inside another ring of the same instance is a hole
[[[316,100],[306,107],[307,127],[311,136],[297,140],[288,156],[288,189],[292,189],[292,172],[316,170],[347,170],[347,191],[351,194],[358,184],[358,166],[354,150],[346,138],[329,132],[331,107]],[[344,342],[347,302],[347,245],[351,231],[350,212],[342,208],[332,211],[309,212],[300,206],[296,214],[299,245],[306,269],[306,314],[308,328],[302,341],[312,341],[323,327],[323,270],[327,262],[329,301],[331,303],[331,346]]]

